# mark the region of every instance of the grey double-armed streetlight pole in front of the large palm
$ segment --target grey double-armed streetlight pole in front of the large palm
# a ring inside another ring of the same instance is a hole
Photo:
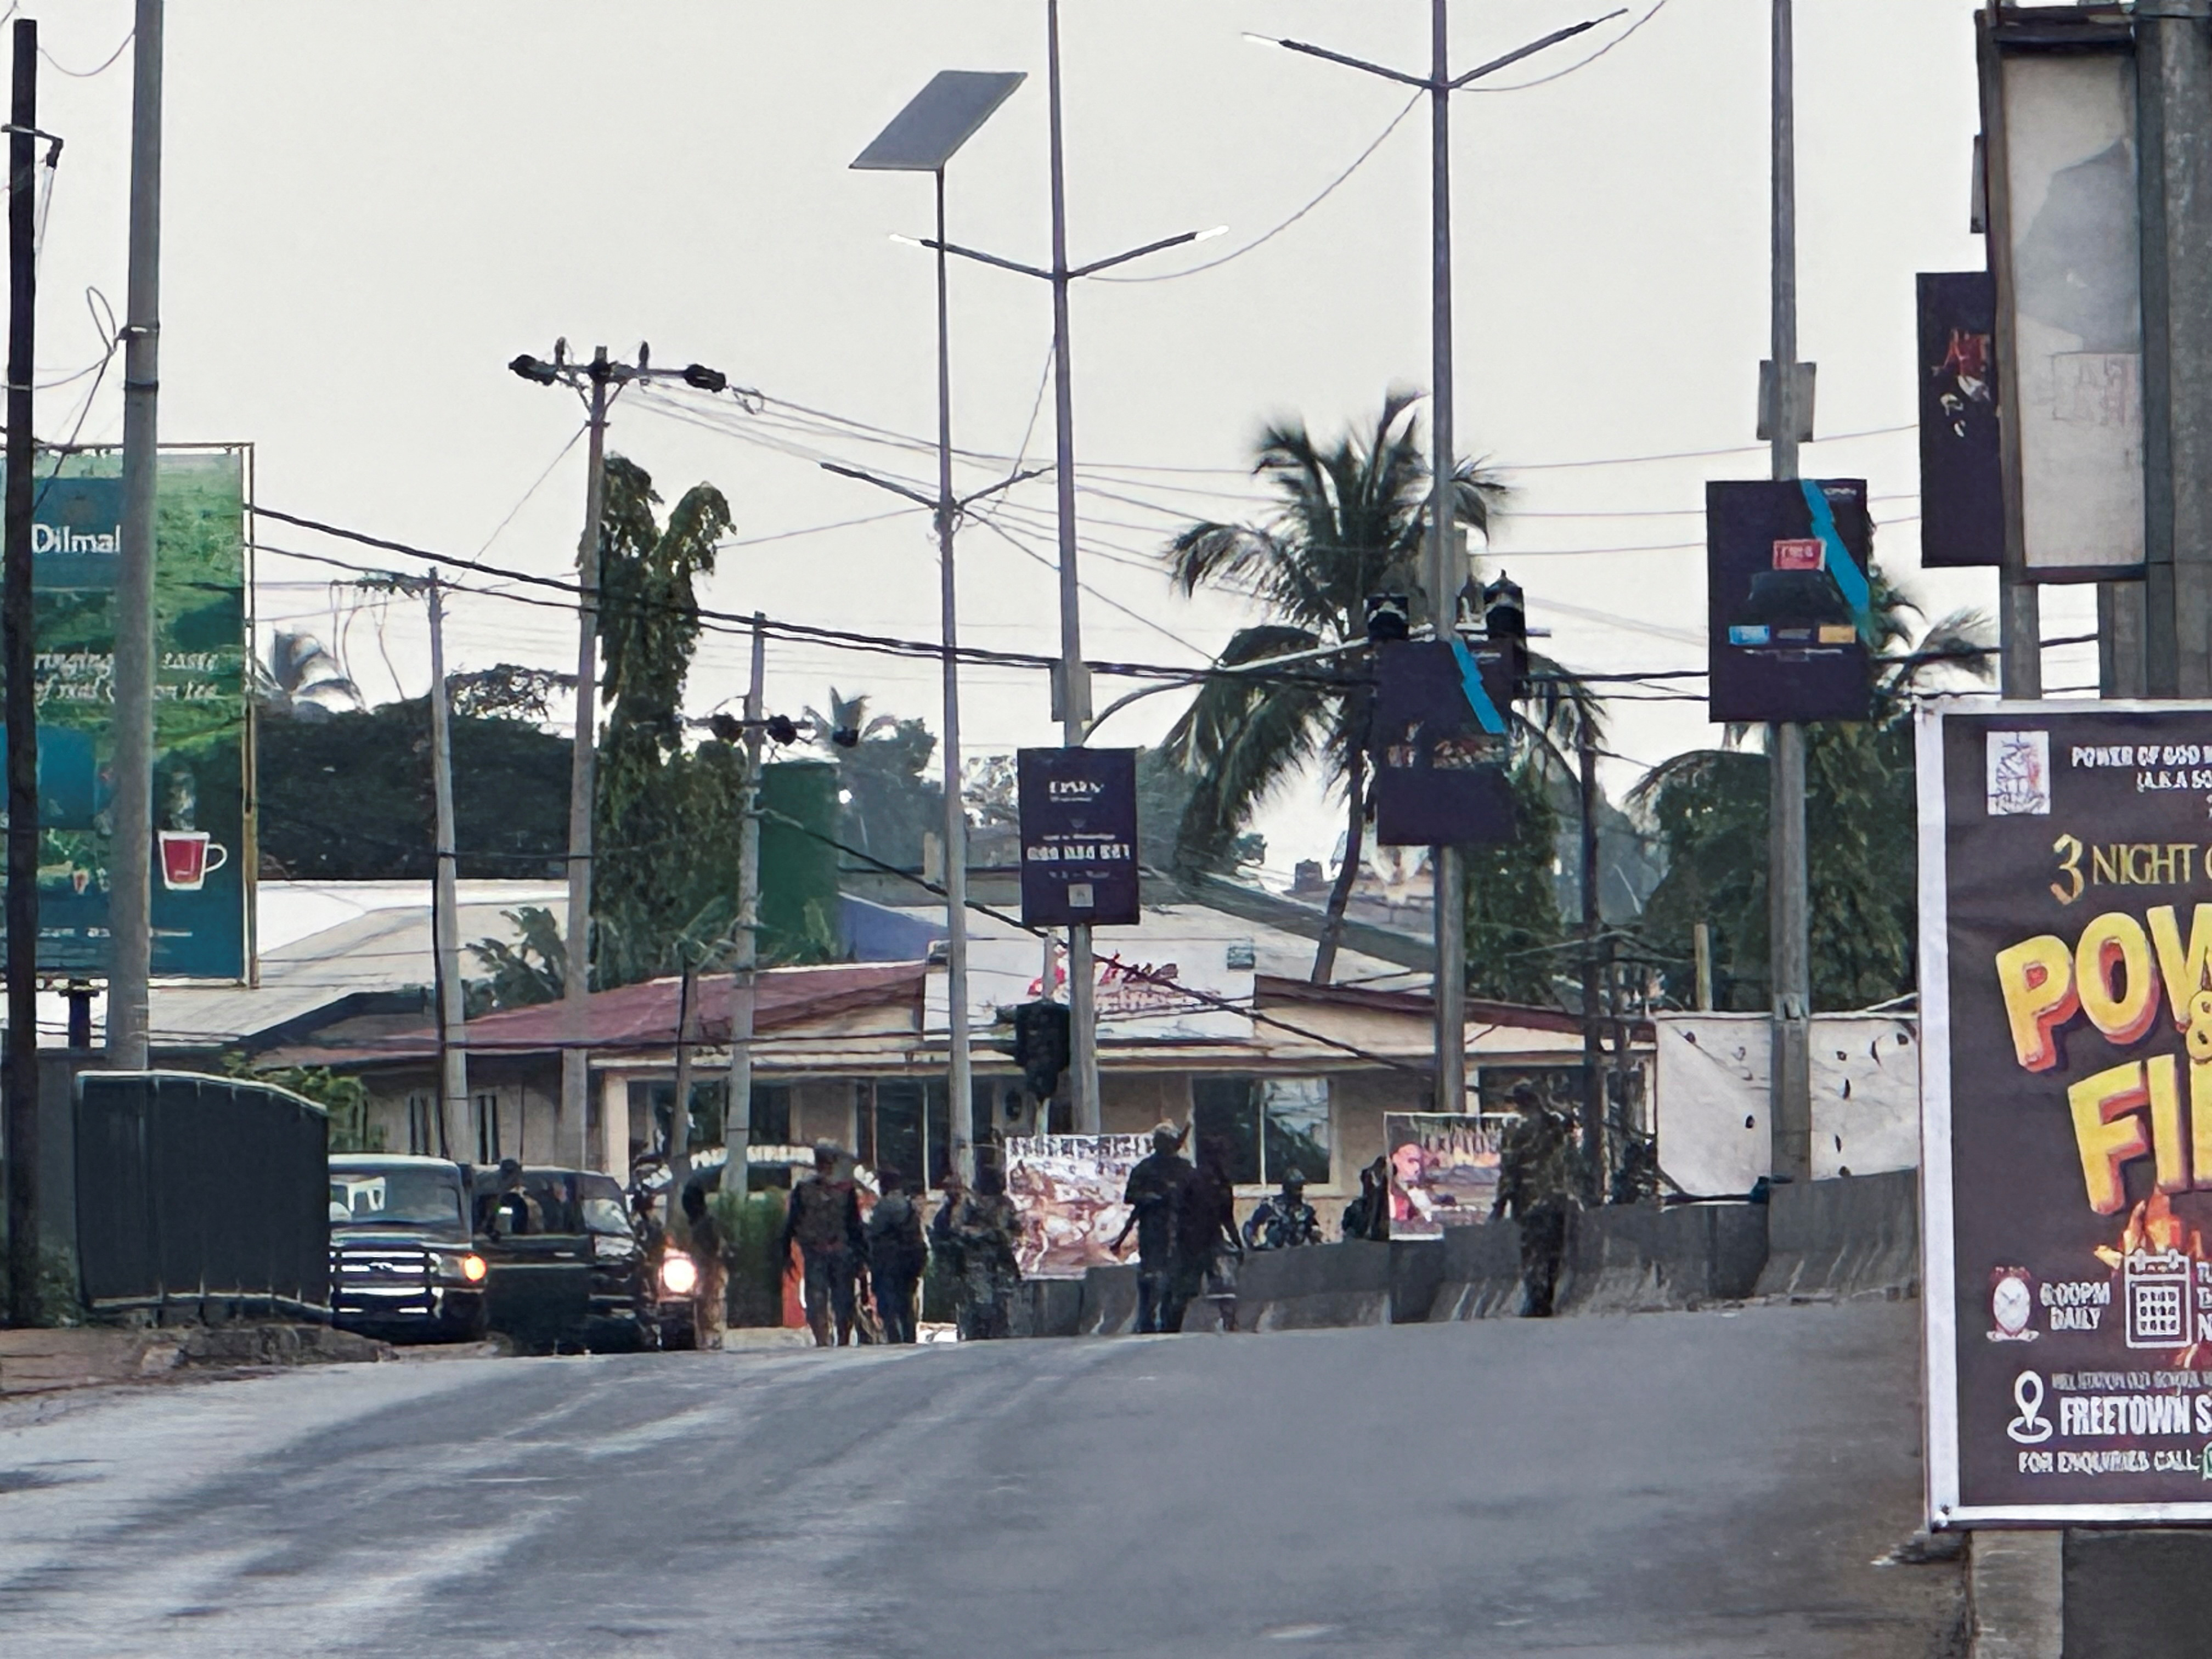
[[[1608,11],[1606,18],[1617,18]],[[1451,27],[1444,0],[1429,0],[1429,73],[1407,75],[1398,69],[1369,64],[1360,58],[1345,58],[1338,51],[1310,46],[1303,40],[1270,40],[1248,35],[1261,46],[1283,46],[1287,51],[1321,58],[1347,69],[1360,69],[1400,86],[1420,86],[1429,93],[1429,427],[1436,440],[1429,480],[1429,546],[1425,586],[1429,588],[1429,617],[1438,639],[1451,639],[1458,622],[1460,584],[1467,566],[1458,557],[1458,491],[1453,487],[1453,429],[1451,429],[1451,95],[1471,82],[1491,75],[1506,64],[1517,64],[1546,46],[1573,40],[1586,29],[1595,29],[1606,18],[1555,29],[1542,40],[1515,46],[1502,58],[1475,64],[1464,75],[1451,73]],[[1436,878],[1436,1110],[1467,1110],[1467,894],[1458,847],[1431,847],[1429,869]]]

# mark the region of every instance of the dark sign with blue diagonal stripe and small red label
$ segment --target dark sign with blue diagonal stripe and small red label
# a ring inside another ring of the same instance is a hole
[[[1867,719],[1871,553],[1865,478],[1705,484],[1712,719]]]

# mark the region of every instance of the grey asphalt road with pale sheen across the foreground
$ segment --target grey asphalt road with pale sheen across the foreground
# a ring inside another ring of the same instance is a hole
[[[40,1655],[1953,1652],[1913,1305],[447,1360],[0,1416]]]

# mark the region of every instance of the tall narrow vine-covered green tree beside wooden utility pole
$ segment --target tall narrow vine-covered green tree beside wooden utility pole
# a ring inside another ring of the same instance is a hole
[[[599,739],[593,812],[591,980],[597,989],[677,971],[728,940],[737,918],[743,752],[686,745],[684,681],[699,648],[695,582],[714,571],[730,504],[684,491],[668,522],[644,467],[608,456],[599,535]]]

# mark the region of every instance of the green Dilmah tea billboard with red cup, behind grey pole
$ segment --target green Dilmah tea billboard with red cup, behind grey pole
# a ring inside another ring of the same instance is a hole
[[[241,980],[248,812],[246,449],[164,449],[155,480],[153,971]],[[80,451],[33,495],[38,964],[108,971],[122,453]]]

